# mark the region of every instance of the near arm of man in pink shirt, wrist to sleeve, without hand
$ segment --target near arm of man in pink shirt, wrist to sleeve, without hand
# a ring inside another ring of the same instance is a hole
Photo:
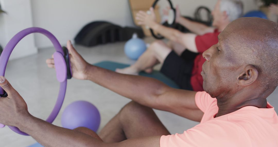
[[[54,126],[46,121],[33,116],[23,118],[25,124],[18,125],[19,129],[28,133],[38,143],[45,147],[143,147],[143,146],[160,146],[160,137],[153,136],[147,138],[128,139],[119,143],[105,143],[97,138],[87,134]],[[136,133],[136,132],[134,132]]]

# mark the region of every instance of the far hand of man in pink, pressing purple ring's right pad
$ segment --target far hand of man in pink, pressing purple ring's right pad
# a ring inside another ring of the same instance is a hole
[[[81,55],[73,48],[70,41],[67,42],[67,48],[69,50],[69,60],[71,63],[72,77],[79,80],[87,79],[87,68],[90,65],[86,62]],[[48,67],[55,68],[53,56],[51,59],[47,59],[46,63]]]

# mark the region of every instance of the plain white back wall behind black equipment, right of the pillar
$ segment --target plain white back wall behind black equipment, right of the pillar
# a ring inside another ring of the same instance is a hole
[[[165,0],[163,0],[165,1]],[[172,0],[179,4],[182,15],[193,16],[198,6],[211,10],[217,0]],[[243,0],[244,12],[257,9],[254,0]],[[73,40],[78,31],[87,23],[106,20],[121,26],[133,26],[128,0],[31,0],[33,25],[53,33],[61,44]],[[167,4],[165,2],[164,4]],[[160,2],[163,8],[163,2]],[[35,34],[38,48],[46,48],[51,42]]]

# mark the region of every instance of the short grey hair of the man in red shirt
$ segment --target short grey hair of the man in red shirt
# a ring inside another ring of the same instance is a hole
[[[241,0],[221,0],[220,11],[226,11],[230,21],[234,21],[243,15],[243,3]]]

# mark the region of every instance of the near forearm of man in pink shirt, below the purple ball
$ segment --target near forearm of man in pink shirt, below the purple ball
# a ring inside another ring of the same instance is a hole
[[[54,126],[31,115],[22,117],[17,126],[45,147],[104,146],[106,143],[78,131]]]

